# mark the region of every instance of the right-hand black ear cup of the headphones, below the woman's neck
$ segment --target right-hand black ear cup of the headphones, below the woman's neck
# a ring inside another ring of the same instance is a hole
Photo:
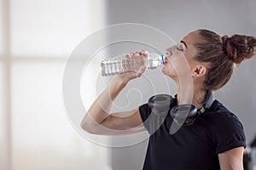
[[[195,105],[176,105],[170,111],[172,119],[177,123],[186,123],[187,118],[196,116],[197,109]]]

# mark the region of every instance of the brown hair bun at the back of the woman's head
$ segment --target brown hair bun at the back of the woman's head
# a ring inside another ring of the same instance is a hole
[[[224,52],[234,63],[240,64],[243,59],[250,59],[255,54],[256,39],[244,35],[233,35],[221,37]]]

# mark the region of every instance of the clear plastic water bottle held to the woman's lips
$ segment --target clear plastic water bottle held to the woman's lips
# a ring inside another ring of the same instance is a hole
[[[157,66],[164,63],[164,55],[149,53],[148,59],[141,57],[127,58],[125,55],[120,55],[111,59],[105,59],[101,62],[102,76],[108,77],[124,72],[138,71],[143,65],[148,69],[155,69]]]

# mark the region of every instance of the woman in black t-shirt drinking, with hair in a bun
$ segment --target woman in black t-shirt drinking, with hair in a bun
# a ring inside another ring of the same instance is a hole
[[[220,37],[212,31],[197,30],[167,48],[162,72],[176,82],[176,105],[192,103],[201,111],[209,97],[207,92],[229,82],[234,66],[243,59],[252,58],[255,46],[255,37]],[[133,57],[147,55],[144,51],[132,54]],[[184,64],[189,65],[187,70]],[[147,104],[133,111],[109,114],[119,92],[144,70],[145,66],[142,66],[137,72],[114,77],[91,105],[81,127],[88,133],[109,135],[149,132],[145,122],[152,110]],[[192,125],[182,126],[174,134],[169,133],[172,122],[173,118],[168,114],[150,135],[143,169],[243,169],[242,156],[246,146],[243,127],[217,99]]]

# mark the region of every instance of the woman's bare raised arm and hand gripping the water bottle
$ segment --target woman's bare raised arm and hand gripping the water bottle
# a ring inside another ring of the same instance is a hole
[[[133,54],[138,57],[147,57],[148,54],[137,52]],[[127,72],[113,78],[102,94],[90,106],[85,114],[80,126],[88,133],[119,135],[137,133],[144,130],[143,122],[138,108],[132,111],[125,111],[110,114],[113,100],[119,95],[121,90],[132,79],[141,77],[146,67],[140,67],[137,72]]]

